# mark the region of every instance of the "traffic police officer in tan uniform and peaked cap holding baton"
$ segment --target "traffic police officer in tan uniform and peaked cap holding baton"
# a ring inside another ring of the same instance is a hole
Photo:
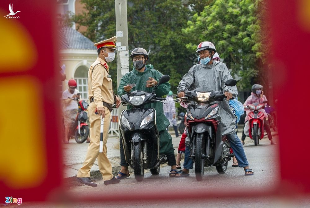
[[[91,65],[88,71],[88,95],[91,103],[88,107],[89,122],[91,124],[90,137],[86,158],[81,169],[77,174],[77,181],[88,186],[97,186],[91,182],[90,170],[96,158],[104,184],[119,183],[120,180],[112,174],[112,165],[107,157],[108,130],[111,120],[112,105],[116,103],[118,108],[121,104],[120,99],[114,95],[112,79],[109,75],[108,62],[115,58],[116,40],[114,36],[110,39],[95,43],[98,52],[97,60]],[[99,153],[100,143],[100,120],[104,117],[104,138],[103,152]]]

